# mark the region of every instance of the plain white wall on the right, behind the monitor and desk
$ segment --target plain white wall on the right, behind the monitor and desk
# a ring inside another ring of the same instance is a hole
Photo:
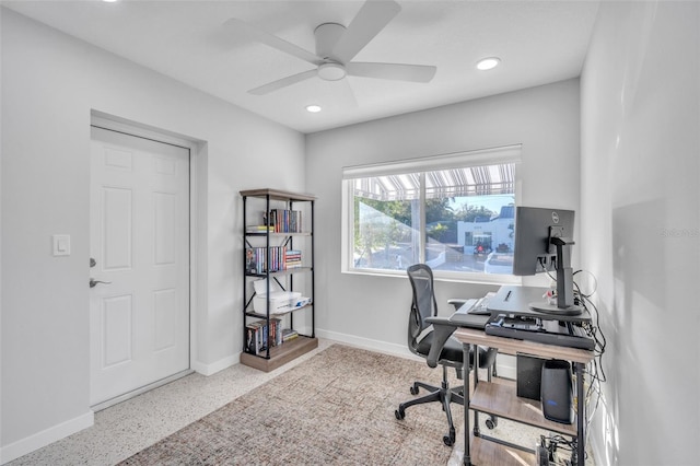
[[[582,260],[608,341],[596,464],[698,464],[700,3],[598,14],[581,78]]]

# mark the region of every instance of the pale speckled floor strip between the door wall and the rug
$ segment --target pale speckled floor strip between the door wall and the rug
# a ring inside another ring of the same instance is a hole
[[[95,413],[93,427],[22,456],[21,465],[113,465],[219,409],[234,398],[323,351],[332,341],[264,373],[235,364],[208,377],[194,373]]]

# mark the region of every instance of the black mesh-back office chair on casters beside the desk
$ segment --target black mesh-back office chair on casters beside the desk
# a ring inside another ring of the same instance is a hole
[[[447,368],[455,368],[457,378],[468,376],[469,370],[474,365],[474,349],[469,354],[468,369],[464,371],[464,352],[462,343],[454,338],[452,334],[457,326],[450,323],[446,317],[438,317],[438,303],[433,291],[433,272],[425,264],[416,264],[407,269],[408,278],[413,290],[413,301],[408,318],[408,348],[409,350],[422,358],[431,368],[442,365],[442,385],[440,387],[429,385],[423,382],[416,381],[410,387],[411,395],[418,395],[419,388],[427,389],[429,393],[419,398],[413,398],[406,403],[401,403],[395,411],[396,419],[406,417],[406,408],[423,403],[440,401],[442,408],[447,416],[447,424],[450,431],[443,436],[443,442],[447,446],[455,443],[455,427],[452,421],[451,403],[464,406],[463,386],[450,388],[447,382]],[[451,300],[455,307],[464,301]],[[433,325],[433,328],[427,330]],[[485,349],[479,347],[479,368],[490,368],[495,362],[495,349]],[[464,375],[463,375],[464,374]],[[495,419],[491,419],[495,424]]]

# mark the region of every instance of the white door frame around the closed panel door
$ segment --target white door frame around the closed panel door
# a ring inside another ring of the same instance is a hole
[[[202,264],[198,260],[199,256],[197,254],[200,245],[199,238],[206,237],[206,226],[198,226],[200,224],[206,225],[206,222],[198,221],[200,220],[201,213],[198,205],[198,200],[201,197],[199,193],[200,189],[205,188],[203,185],[206,185],[206,182],[200,180],[200,183],[198,183],[198,179],[200,173],[206,174],[206,166],[200,165],[206,163],[206,156],[203,155],[206,154],[207,144],[205,141],[178,136],[171,131],[149,127],[94,109],[90,113],[90,126],[189,150],[189,369],[91,407],[93,411],[98,411],[196,371],[198,365],[196,330],[198,327],[197,316],[199,315],[197,303],[199,302],[199,298],[205,295],[201,293],[201,290],[205,289],[203,287],[206,284],[200,280],[201,277],[206,275],[199,271]]]

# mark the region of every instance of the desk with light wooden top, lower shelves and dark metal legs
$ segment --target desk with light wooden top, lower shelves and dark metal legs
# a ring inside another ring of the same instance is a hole
[[[499,351],[509,353],[524,353],[539,358],[571,361],[576,374],[575,424],[563,424],[547,420],[538,401],[517,397],[514,386],[480,382],[478,380],[478,371],[474,371],[474,393],[470,394],[469,377],[464,377],[464,464],[471,465],[472,461],[480,465],[522,465],[523,461],[535,464],[535,454],[532,453],[532,448],[525,447],[529,450],[529,453],[527,453],[514,451],[514,445],[486,441],[487,438],[479,433],[476,422],[474,432],[470,432],[469,409],[472,409],[475,411],[475,420],[478,419],[478,412],[486,412],[575,438],[576,462],[580,466],[583,466],[585,463],[585,393],[583,391],[583,377],[585,365],[594,358],[593,351],[497,337],[486,335],[483,330],[462,327],[457,328],[454,336],[463,345],[465,361],[469,360],[470,346],[478,345],[498,348]],[[478,351],[474,353],[478,358]],[[478,360],[475,361],[474,366],[478,368]]]

